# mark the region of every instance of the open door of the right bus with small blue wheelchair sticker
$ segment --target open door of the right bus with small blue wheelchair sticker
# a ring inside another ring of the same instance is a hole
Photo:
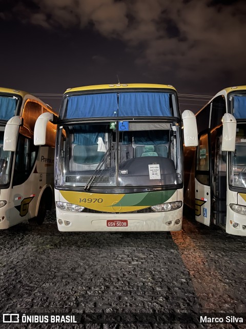
[[[198,135],[195,172],[195,215],[196,221],[210,225],[211,215],[211,148],[210,132],[204,131]]]

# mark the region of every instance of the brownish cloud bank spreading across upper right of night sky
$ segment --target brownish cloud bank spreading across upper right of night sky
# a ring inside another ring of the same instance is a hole
[[[175,85],[230,81],[244,77],[246,7],[244,0],[33,0],[13,1],[0,19],[62,33],[92,29],[120,41],[143,75],[171,77]],[[94,52],[94,63],[106,63]],[[198,80],[198,81],[197,81]],[[165,79],[166,81],[166,79]],[[196,81],[194,83],[194,81]]]

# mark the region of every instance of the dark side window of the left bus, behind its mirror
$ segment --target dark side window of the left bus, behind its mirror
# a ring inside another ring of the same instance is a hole
[[[14,165],[13,186],[23,184],[29,177],[37,152],[38,147],[34,146],[33,140],[19,135]]]

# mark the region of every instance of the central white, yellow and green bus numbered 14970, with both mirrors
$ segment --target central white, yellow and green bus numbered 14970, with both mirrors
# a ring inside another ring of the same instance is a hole
[[[51,114],[36,122],[46,143]],[[185,143],[197,143],[187,111]],[[60,231],[177,231],[182,225],[183,138],[171,85],[67,89],[57,123],[55,200]],[[193,134],[192,134],[193,133]]]

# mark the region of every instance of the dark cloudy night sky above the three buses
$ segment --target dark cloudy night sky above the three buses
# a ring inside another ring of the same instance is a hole
[[[118,75],[213,96],[246,84],[245,0],[0,1],[2,87],[63,94]],[[39,98],[59,107],[59,95]],[[180,96],[180,107],[209,99]]]

